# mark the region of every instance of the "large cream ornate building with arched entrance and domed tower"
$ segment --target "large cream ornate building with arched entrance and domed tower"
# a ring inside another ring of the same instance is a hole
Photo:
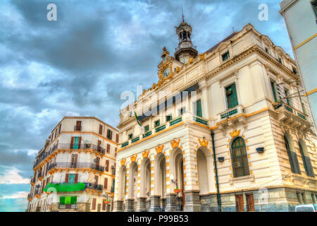
[[[190,25],[182,21],[176,33],[159,82],[120,111],[113,210],[316,203],[316,134],[294,60],[251,24],[201,54]]]

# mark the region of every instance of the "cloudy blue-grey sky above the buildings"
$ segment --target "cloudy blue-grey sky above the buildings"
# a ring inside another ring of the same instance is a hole
[[[120,94],[157,82],[162,48],[174,54],[178,44],[181,6],[199,52],[251,23],[292,56],[279,2],[1,0],[0,211],[27,208],[35,154],[63,116],[117,126]],[[46,19],[50,3],[57,21]]]

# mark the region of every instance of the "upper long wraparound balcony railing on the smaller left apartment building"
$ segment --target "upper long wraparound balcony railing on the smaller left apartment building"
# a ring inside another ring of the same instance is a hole
[[[89,150],[96,150],[99,153],[106,153],[105,148],[101,148],[99,145],[95,145],[92,143],[79,143],[79,144],[74,144],[74,143],[58,143],[53,145],[51,150],[47,153],[44,153],[41,157],[37,158],[37,162],[35,162],[35,165],[33,165],[33,168],[37,167],[40,162],[42,162],[47,156],[51,155],[51,153],[54,152],[56,149],[89,149]]]

